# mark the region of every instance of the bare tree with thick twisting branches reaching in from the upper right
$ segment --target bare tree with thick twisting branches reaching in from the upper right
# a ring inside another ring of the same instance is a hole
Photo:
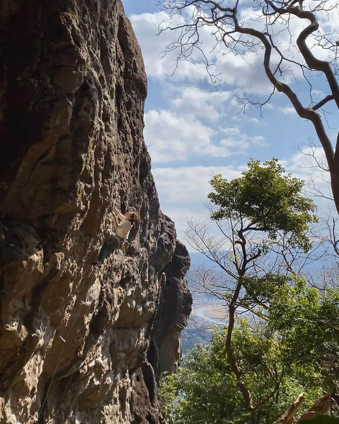
[[[324,125],[326,117],[320,113],[329,102],[336,111],[339,109],[338,34],[335,29],[329,33],[320,31],[319,25],[322,20],[332,19],[335,28],[338,20],[336,0],[255,0],[250,12],[248,3],[243,6],[240,0],[158,0],[158,4],[168,12],[168,20],[162,22],[160,32],[175,32],[175,40],[167,46],[166,52],[178,51],[178,66],[181,60],[195,62],[195,52],[198,51],[214,85],[217,85],[219,76],[212,72],[211,51],[204,50],[206,28],[214,37],[211,50],[216,55],[233,53],[246,61],[248,53],[263,51],[263,71],[272,84],[272,93],[263,101],[254,101],[251,96],[244,95],[240,99],[242,107],[245,110],[248,104],[253,104],[261,108],[278,91],[286,95],[301,118],[311,121],[325,153],[333,198],[339,212],[339,133],[333,147]],[[300,30],[303,22],[304,28]],[[298,31],[297,36],[295,31]],[[286,34],[289,39],[287,48]],[[292,84],[286,81],[286,76],[299,71],[309,89],[308,104],[302,103]],[[324,80],[328,94],[315,102],[313,85]]]

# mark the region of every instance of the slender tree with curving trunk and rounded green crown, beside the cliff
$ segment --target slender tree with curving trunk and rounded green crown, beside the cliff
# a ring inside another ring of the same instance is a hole
[[[214,192],[208,195],[214,204],[211,219],[217,222],[222,238],[216,242],[215,237],[210,237],[206,232],[206,225],[197,225],[192,221],[189,222],[187,237],[191,245],[219,265],[226,276],[224,284],[220,284],[219,279],[217,283],[215,280],[212,283],[208,281],[208,285],[217,285],[221,289],[220,296],[228,302],[225,351],[246,410],[254,413],[258,405],[253,401],[253,395],[237,364],[231,339],[239,306],[247,306],[254,314],[261,316],[261,310],[267,310],[267,305],[257,296],[253,307],[249,307],[245,277],[258,275],[258,258],[267,253],[268,246],[278,238],[278,233],[282,234],[289,249],[299,248],[305,252],[311,248],[306,232],[308,225],[317,220],[311,213],[315,206],[310,199],[300,195],[303,181],[290,174],[285,175],[278,159],[265,161],[263,165],[251,160],[240,178],[227,181],[221,175],[216,175],[211,180],[211,186],[214,188]],[[227,248],[225,242],[228,242]],[[200,279],[200,283],[206,287],[208,277],[200,273],[197,280]],[[272,396],[274,394],[275,390]]]

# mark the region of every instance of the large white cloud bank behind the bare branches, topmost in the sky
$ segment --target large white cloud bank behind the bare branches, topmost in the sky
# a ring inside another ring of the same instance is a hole
[[[189,12],[189,8],[185,8],[183,10],[182,17],[178,14],[173,14],[171,18],[171,26],[175,27],[176,25],[181,24],[183,19],[189,17]],[[257,19],[258,13],[260,14],[260,12],[255,11],[250,4],[239,10],[239,15],[246,17],[245,20],[248,26],[266,31],[264,28],[265,21],[259,21]],[[318,14],[320,17],[320,31],[327,34],[333,32],[333,37],[335,37],[336,34],[333,30],[335,29],[334,27],[337,21],[337,11],[330,11],[328,16],[326,13],[322,14],[322,12],[318,12]],[[179,49],[173,49],[160,60],[159,54],[161,56],[161,52],[165,50],[166,46],[171,45],[171,43],[175,41],[176,36],[178,36],[178,31],[165,31],[159,36],[156,36],[159,30],[159,25],[163,27],[168,25],[170,19],[169,14],[165,11],[132,14],[130,19],[142,48],[148,76],[164,80],[166,75],[171,75],[176,69],[173,76],[174,81],[181,80],[190,83],[197,81],[210,82],[206,72],[205,59],[197,49],[193,49],[191,55],[191,59],[195,62],[195,64],[181,60],[178,63],[178,67],[176,67],[175,59],[180,53]],[[161,24],[161,22],[166,21],[167,24]],[[303,78],[300,66],[293,63],[293,61],[298,61],[300,59],[300,61],[303,62],[302,58],[300,58],[300,52],[296,46],[296,38],[306,25],[308,25],[308,22],[305,20],[292,16],[289,19],[289,31],[287,31],[286,22],[283,22],[282,20],[281,22],[277,20],[271,28],[271,35],[275,45],[278,45],[286,58],[292,60],[286,64],[288,65],[288,69],[286,68],[286,72],[283,74],[284,81],[287,83],[294,84],[295,78],[297,80]],[[220,73],[220,78],[223,84],[222,89],[225,89],[225,86],[233,86],[247,94],[258,95],[261,99],[263,96],[267,96],[272,92],[272,86],[264,72],[263,50],[260,45],[257,47],[253,46],[254,51],[250,51],[249,49],[246,50],[244,48],[241,53],[238,52],[238,54],[234,55],[233,52],[225,46],[221,46],[220,49],[214,49],[215,39],[214,36],[211,35],[211,27],[203,25],[199,29],[199,32],[201,42],[199,48],[201,47],[211,63],[215,62],[215,67],[210,67],[209,69],[211,72],[215,72],[217,74]],[[247,36],[247,38],[250,39],[249,36]],[[308,37],[308,45],[313,49],[312,51],[319,57],[319,59],[328,59],[328,50],[317,45],[316,40],[312,38],[312,36]],[[241,46],[239,47],[239,50],[241,50]],[[279,61],[280,56],[273,49],[271,59],[272,69],[275,70],[275,64],[278,64]],[[318,78],[317,81],[320,81],[320,79]],[[307,83],[305,82],[305,84]],[[321,87],[316,87],[316,84],[313,84],[312,91],[314,91],[314,94],[321,91],[319,88]],[[297,90],[299,91],[303,89],[304,85],[298,87]],[[215,116],[213,112],[211,113],[211,117]]]

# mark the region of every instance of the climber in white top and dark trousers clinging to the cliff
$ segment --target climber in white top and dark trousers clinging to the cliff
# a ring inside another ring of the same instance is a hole
[[[120,222],[118,223],[118,218]],[[111,239],[103,243],[102,248],[100,249],[99,258],[97,262],[93,262],[94,265],[101,265],[103,261],[111,254],[116,248],[116,238],[118,239],[118,246],[122,245],[124,250],[124,245],[128,240],[128,235],[131,231],[133,224],[140,220],[140,215],[138,212],[127,212],[125,215],[122,215],[116,207],[113,207],[113,223],[115,228],[115,234],[112,234]]]

